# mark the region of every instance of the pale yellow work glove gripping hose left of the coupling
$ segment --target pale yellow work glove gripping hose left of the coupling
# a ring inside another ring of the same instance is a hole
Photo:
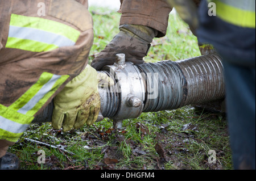
[[[82,125],[92,125],[100,112],[98,83],[113,85],[107,75],[97,73],[90,65],[73,78],[53,99],[52,127],[67,132]]]

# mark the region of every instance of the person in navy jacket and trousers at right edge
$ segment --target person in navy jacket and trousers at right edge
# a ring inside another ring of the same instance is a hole
[[[255,170],[255,1],[204,0],[196,33],[223,59],[234,169]]]

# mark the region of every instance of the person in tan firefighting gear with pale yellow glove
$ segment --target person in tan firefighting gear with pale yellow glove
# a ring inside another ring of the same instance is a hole
[[[6,153],[53,100],[52,126],[92,125],[98,81],[88,65],[93,20],[86,0],[0,0],[0,169],[18,169]]]

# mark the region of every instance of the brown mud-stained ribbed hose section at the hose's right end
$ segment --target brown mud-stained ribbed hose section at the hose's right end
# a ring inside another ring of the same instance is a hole
[[[205,103],[225,96],[224,69],[216,54],[177,61],[186,83],[183,105]]]

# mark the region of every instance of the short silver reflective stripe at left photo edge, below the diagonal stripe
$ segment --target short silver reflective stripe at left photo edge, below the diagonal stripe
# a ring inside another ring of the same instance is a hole
[[[29,124],[20,124],[0,116],[0,128],[11,133],[23,133]]]

